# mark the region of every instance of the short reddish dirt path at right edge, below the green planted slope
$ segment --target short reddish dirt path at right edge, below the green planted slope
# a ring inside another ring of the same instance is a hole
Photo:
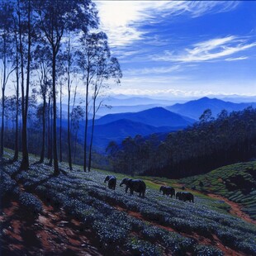
[[[227,205],[230,206],[230,214],[234,215],[234,216],[238,216],[240,219],[245,220],[247,222],[253,223],[254,225],[256,225],[256,220],[253,220],[248,214],[246,214],[244,211],[242,211],[242,206],[240,206],[238,203],[235,203],[234,201],[230,201],[225,197],[221,197],[220,195],[216,195],[216,194],[206,194],[206,196],[211,197],[211,198],[215,198],[218,200],[222,200],[225,201],[225,203]]]

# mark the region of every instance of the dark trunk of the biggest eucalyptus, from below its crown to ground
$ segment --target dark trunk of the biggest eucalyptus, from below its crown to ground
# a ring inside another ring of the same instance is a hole
[[[54,156],[54,168],[55,175],[59,175],[58,164],[58,151],[57,151],[57,107],[56,107],[56,52],[53,49],[53,63],[52,63],[52,78],[53,78],[53,110],[54,110],[54,126],[53,126],[53,156]]]

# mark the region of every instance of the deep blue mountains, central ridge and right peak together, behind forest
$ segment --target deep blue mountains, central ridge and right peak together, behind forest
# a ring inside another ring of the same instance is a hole
[[[135,98],[136,102],[139,98]],[[121,101],[126,104],[126,99],[116,100],[116,103]],[[145,102],[150,100],[145,98]],[[152,103],[152,102],[151,102]],[[163,103],[163,102],[162,102]],[[167,102],[164,102],[167,103]],[[217,116],[223,109],[227,111],[240,111],[246,107],[256,107],[256,103],[234,103],[225,102],[216,98],[202,97],[197,100],[186,102],[183,104],[174,104],[173,106],[152,107],[149,105],[135,105],[135,106],[121,106],[116,107],[116,111],[122,111],[127,108],[138,109],[140,107],[150,107],[143,111],[135,112],[119,112],[116,114],[108,114],[99,117],[95,121],[94,131],[94,149],[105,151],[108,143],[115,140],[121,143],[126,137],[135,135],[149,136],[157,134],[159,138],[168,134],[168,132],[175,130],[183,130],[185,127],[192,125],[199,119],[199,116],[207,108],[210,108],[213,116]],[[59,126],[59,123],[58,123]],[[67,121],[63,120],[63,127],[67,126]],[[88,133],[90,135],[92,130],[92,121],[89,121]],[[83,144],[84,136],[84,121],[80,122],[80,129],[78,131],[78,138]],[[160,139],[159,139],[160,140]]]

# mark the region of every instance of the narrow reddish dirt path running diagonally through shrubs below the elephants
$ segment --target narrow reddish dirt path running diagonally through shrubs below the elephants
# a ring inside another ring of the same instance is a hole
[[[121,206],[115,206],[115,208],[118,211],[125,211],[129,216],[133,216],[134,218],[139,219],[139,220],[147,221],[150,224],[158,226],[161,229],[168,230],[169,232],[176,232],[179,235],[183,235],[188,238],[196,239],[198,244],[215,246],[218,249],[220,249],[225,255],[230,255],[230,256],[245,256],[246,255],[246,254],[235,251],[234,249],[230,249],[229,247],[225,246],[224,244],[221,243],[220,239],[216,235],[212,235],[212,238],[210,239],[210,238],[206,238],[202,235],[198,235],[196,232],[193,232],[192,234],[178,232],[177,230],[174,230],[171,227],[159,225],[157,222],[145,219],[145,217],[142,216],[140,214],[140,212],[127,211],[125,208],[122,208]]]

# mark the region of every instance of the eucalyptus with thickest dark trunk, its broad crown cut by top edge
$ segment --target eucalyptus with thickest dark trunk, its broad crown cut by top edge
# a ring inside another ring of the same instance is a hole
[[[53,154],[55,174],[59,174],[56,129],[56,59],[62,46],[64,36],[69,31],[87,34],[90,27],[97,27],[97,12],[90,0],[37,0],[38,26],[50,45],[52,57],[53,89]]]

